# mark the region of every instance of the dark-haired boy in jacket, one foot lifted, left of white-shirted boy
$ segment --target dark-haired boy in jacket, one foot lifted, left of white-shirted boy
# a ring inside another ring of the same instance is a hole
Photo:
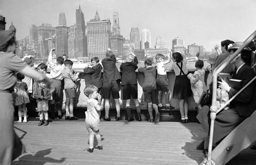
[[[144,92],[145,101],[148,103],[148,111],[149,111],[149,122],[159,122],[160,120],[160,113],[158,112],[157,102],[157,69],[156,67],[152,67],[152,61],[147,59],[145,62],[145,67],[139,68],[138,71],[144,74],[144,82],[142,85],[142,90]],[[156,111],[156,118],[153,120],[153,110]]]

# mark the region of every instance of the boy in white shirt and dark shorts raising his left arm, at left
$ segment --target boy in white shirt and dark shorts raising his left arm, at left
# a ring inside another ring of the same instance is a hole
[[[62,71],[64,70],[64,58],[63,57],[58,57],[56,59],[56,64],[53,63],[53,56],[52,56],[52,52],[55,51],[55,48],[52,48],[50,53],[49,53],[49,57],[48,57],[48,66],[51,69],[51,76],[52,76],[52,80],[53,80],[53,84],[56,87],[56,90],[52,93],[53,95],[53,100],[51,100],[51,119],[55,118],[54,115],[54,109],[55,109],[55,103],[56,103],[56,108],[58,110],[58,116],[61,119],[62,118],[62,112],[61,112],[61,104],[60,101],[63,99],[61,99],[61,93],[62,93],[62,80],[63,80],[63,74]]]

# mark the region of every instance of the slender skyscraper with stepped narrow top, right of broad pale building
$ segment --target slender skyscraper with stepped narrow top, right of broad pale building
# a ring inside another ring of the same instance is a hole
[[[119,20],[118,12],[114,12],[113,20],[114,24],[112,26],[112,32],[110,35],[110,48],[116,57],[122,58],[124,55],[124,39],[123,36],[120,34],[120,26],[117,24],[117,20]]]

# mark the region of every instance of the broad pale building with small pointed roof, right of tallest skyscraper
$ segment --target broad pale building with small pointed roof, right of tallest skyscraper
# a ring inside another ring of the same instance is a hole
[[[110,48],[110,20],[99,20],[96,12],[95,19],[87,22],[88,57],[105,58],[106,49]]]

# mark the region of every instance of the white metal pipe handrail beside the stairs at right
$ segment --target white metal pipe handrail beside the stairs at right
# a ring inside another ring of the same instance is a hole
[[[222,106],[219,110],[216,106],[217,101],[217,76],[218,74],[224,70],[224,68],[247,46],[253,39],[256,38],[256,31],[253,32],[245,41],[244,44],[239,47],[234,54],[232,54],[229,58],[226,58],[214,71],[213,71],[213,95],[212,95],[212,105],[210,107],[210,118],[211,118],[211,125],[210,125],[210,135],[209,135],[209,146],[208,146],[208,156],[206,164],[212,164],[211,156],[212,156],[212,142],[213,142],[213,130],[214,130],[214,120],[216,118],[216,114],[219,113],[224,106]],[[255,79],[256,77],[254,77]],[[251,81],[250,81],[251,82]],[[249,84],[248,84],[249,85]],[[248,86],[247,85],[247,86]],[[244,90],[245,88],[241,89],[240,91]],[[240,92],[239,91],[239,92]],[[240,92],[240,93],[241,93]],[[238,94],[236,94],[238,95]]]

